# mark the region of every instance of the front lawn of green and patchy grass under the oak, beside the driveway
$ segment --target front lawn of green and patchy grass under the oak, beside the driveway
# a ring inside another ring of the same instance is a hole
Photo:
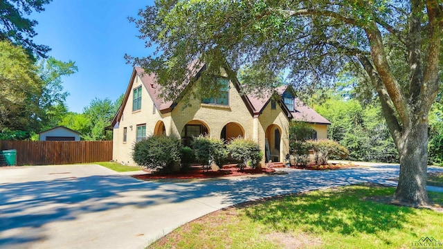
[[[410,248],[443,241],[443,213],[388,205],[392,187],[350,186],[228,208],[181,226],[148,248]],[[443,205],[443,194],[430,192]]]

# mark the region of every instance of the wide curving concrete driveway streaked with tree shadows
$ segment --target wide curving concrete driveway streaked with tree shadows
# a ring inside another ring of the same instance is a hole
[[[0,248],[144,248],[235,203],[354,183],[396,185],[389,178],[399,168],[282,170],[288,174],[152,183],[98,165],[0,168]]]

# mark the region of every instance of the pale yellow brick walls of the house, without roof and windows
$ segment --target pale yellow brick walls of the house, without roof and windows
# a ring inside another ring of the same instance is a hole
[[[132,147],[136,141],[137,126],[146,125],[146,136],[165,132],[166,135],[183,137],[186,124],[204,125],[212,138],[227,139],[243,136],[255,140],[264,152],[262,165],[267,160],[284,161],[289,153],[289,117],[280,105],[275,109],[271,104],[264,105],[260,114],[253,114],[248,109],[244,98],[239,94],[233,82],[229,82],[228,105],[203,104],[201,100],[190,98],[188,104],[178,101],[172,110],[161,111],[156,94],[156,85],[147,84],[145,76],[133,71],[123,103],[116,118],[114,118],[113,160],[127,165],[134,165]],[[144,82],[144,84],[143,84]],[[191,91],[201,84],[197,80]],[[132,111],[134,89],[142,86],[141,109]],[[157,102],[156,102],[157,101]],[[258,113],[258,112],[257,112]],[[225,127],[225,129],[224,129]],[[318,138],[326,138],[326,124],[314,124]],[[126,129],[125,129],[126,128]],[[126,141],[123,141],[124,132]],[[277,130],[277,131],[276,131]],[[275,139],[275,136],[280,138]],[[266,153],[266,140],[269,153]]]

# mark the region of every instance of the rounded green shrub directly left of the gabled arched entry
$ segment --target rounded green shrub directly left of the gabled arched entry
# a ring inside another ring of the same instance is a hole
[[[230,156],[240,162],[240,169],[243,169],[248,164],[255,168],[263,158],[263,152],[260,151],[257,142],[253,140],[235,138],[229,142],[227,147]]]

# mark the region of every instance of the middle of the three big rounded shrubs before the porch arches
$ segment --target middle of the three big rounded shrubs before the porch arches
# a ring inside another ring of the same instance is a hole
[[[228,150],[221,139],[200,135],[192,140],[191,146],[195,158],[203,165],[210,165],[212,161],[221,168],[228,159]]]

